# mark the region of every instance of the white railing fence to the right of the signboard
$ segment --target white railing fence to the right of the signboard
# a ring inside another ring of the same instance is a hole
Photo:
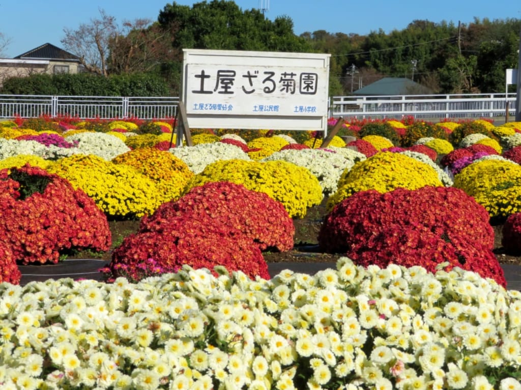
[[[415,119],[515,116],[516,94],[333,96],[329,117]]]

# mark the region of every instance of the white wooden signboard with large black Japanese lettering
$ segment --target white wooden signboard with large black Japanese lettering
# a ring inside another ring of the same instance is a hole
[[[329,54],[183,52],[191,128],[327,129]]]

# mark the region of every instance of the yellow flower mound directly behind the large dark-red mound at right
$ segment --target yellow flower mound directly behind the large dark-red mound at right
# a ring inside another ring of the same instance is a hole
[[[401,153],[380,152],[342,172],[338,190],[328,199],[330,211],[356,192],[376,190],[383,194],[396,188],[417,190],[426,185],[442,187],[438,172],[430,165]]]

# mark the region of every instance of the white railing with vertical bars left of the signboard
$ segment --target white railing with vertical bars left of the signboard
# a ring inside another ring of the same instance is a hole
[[[178,97],[0,95],[0,118],[171,119]]]

